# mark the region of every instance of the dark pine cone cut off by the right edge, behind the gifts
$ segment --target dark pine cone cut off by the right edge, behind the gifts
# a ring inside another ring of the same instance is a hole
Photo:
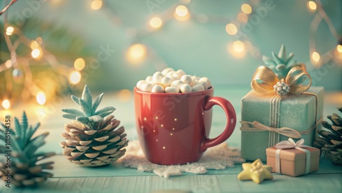
[[[342,112],[342,107],[338,107],[337,110]],[[332,114],[327,118],[332,121],[332,125],[326,121],[322,122],[326,129],[318,131],[320,136],[317,136],[313,146],[321,149],[325,157],[335,164],[342,164],[342,118],[338,114]]]

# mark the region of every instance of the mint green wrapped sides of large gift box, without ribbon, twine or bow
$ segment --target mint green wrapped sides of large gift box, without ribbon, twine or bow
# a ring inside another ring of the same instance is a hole
[[[287,94],[280,100],[278,114],[278,127],[288,127],[298,131],[304,138],[305,144],[312,146],[317,133],[316,129],[321,128],[320,121],[323,115],[323,87],[311,87],[306,92],[311,92],[317,95],[316,97],[311,94]],[[241,122],[254,122],[270,127],[272,111],[270,105],[273,96],[259,94],[251,90],[246,96],[241,99]],[[315,120],[317,113],[317,120]],[[317,127],[313,128],[316,124]],[[311,131],[310,131],[311,129]],[[269,146],[274,146],[277,142],[287,140],[288,136],[282,136],[272,131],[244,131],[241,127],[241,157],[248,160],[261,159],[266,162],[266,149]],[[257,129],[255,129],[257,130]],[[276,140],[269,143],[270,138],[276,136]]]

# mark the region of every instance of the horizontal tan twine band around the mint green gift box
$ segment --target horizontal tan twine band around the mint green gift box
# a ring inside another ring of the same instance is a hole
[[[241,131],[271,131],[279,133],[282,136],[287,136],[288,138],[298,139],[301,137],[298,131],[295,131],[295,129],[291,129],[289,127],[267,127],[266,125],[259,123],[257,120],[254,120],[253,122],[240,121],[240,123],[242,124],[242,127],[240,127]]]

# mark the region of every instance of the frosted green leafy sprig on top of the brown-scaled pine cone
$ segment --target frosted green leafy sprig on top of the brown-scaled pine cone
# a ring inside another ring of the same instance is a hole
[[[64,118],[78,120],[84,125],[88,125],[89,127],[94,127],[96,123],[102,122],[105,116],[114,112],[114,107],[104,107],[101,110],[96,111],[98,105],[100,105],[102,101],[103,93],[98,95],[92,103],[92,92],[90,92],[88,86],[84,86],[82,97],[78,98],[74,95],[71,95],[71,99],[81,107],[81,111],[74,109],[63,109],[62,112],[66,112],[67,114],[63,114]]]

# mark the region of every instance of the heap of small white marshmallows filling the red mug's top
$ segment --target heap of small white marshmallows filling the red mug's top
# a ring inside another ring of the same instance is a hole
[[[145,92],[189,93],[209,88],[211,81],[207,77],[186,75],[183,70],[174,71],[172,68],[165,68],[137,82],[137,89]]]

